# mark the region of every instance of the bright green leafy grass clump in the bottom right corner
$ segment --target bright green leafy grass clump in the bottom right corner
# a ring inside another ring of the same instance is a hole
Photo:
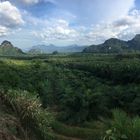
[[[140,118],[130,118],[125,112],[113,111],[111,129],[106,131],[104,140],[139,140]]]

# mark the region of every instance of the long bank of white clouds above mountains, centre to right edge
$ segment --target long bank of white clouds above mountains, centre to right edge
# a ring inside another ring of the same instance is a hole
[[[102,22],[92,26],[71,27],[65,20],[35,20],[42,30],[34,31],[36,37],[45,42],[75,42],[78,44],[99,44],[109,38],[128,40],[140,33],[140,11],[133,10],[116,21]]]

